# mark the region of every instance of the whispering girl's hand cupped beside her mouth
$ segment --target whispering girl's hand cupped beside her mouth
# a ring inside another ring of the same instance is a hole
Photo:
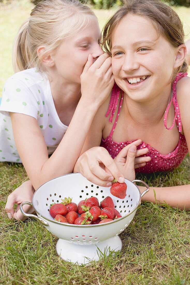
[[[114,84],[111,67],[111,57],[104,53],[93,63],[93,57],[89,54],[87,63],[81,74],[81,100],[97,107],[109,96]]]

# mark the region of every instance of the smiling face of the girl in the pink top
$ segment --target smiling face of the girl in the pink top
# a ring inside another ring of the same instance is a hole
[[[145,17],[128,15],[119,23],[111,53],[115,81],[132,100],[155,98],[171,84],[175,50]]]

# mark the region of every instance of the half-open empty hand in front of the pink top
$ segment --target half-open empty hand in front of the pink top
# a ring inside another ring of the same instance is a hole
[[[146,162],[151,160],[150,156],[141,156],[148,152],[148,148],[137,150],[136,147],[140,143],[142,143],[142,141],[137,140],[131,144],[128,144],[122,148],[116,158],[114,158],[120,172],[129,180],[135,179],[135,168],[145,166]]]

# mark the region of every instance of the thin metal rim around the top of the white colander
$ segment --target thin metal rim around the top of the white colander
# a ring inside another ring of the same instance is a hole
[[[75,172],[75,173],[78,173],[78,172]],[[59,178],[59,177],[62,177],[62,176],[72,175],[72,174],[75,174],[75,173],[69,173],[69,174],[60,175],[60,176],[55,177],[55,178],[53,178],[53,179],[51,179],[51,180],[49,180],[49,181],[52,181],[52,180],[54,180],[54,179],[56,179],[56,178]],[[125,179],[128,180],[128,181],[130,181],[130,180],[127,179],[127,178],[125,178]],[[45,182],[44,184],[48,183],[49,181]],[[132,182],[132,181],[130,181],[130,182]],[[133,182],[132,182],[132,183],[133,183]],[[41,186],[43,186],[44,184],[42,184]],[[134,184],[134,183],[133,183],[133,184]],[[136,184],[134,184],[134,185],[136,186]],[[40,187],[41,187],[41,186],[40,186]],[[40,187],[39,187],[39,188],[40,188]],[[39,188],[38,188],[38,189],[39,189]],[[117,221],[121,221],[122,219],[124,219],[124,218],[126,218],[127,216],[131,215],[131,214],[137,209],[138,205],[139,205],[140,202],[141,202],[141,193],[140,193],[140,190],[139,190],[138,186],[136,186],[136,188],[138,189],[138,192],[139,192],[139,194],[140,194],[140,198],[139,198],[138,203],[137,203],[136,206],[134,207],[134,209],[133,209],[130,213],[124,215],[123,217],[120,217],[120,218],[118,218],[118,219],[116,219],[116,220],[113,220],[113,221],[111,221],[111,222],[108,222],[109,224],[116,223]],[[32,197],[32,206],[33,206],[34,210],[36,211],[36,213],[37,213],[38,215],[40,215],[40,217],[44,218],[45,220],[48,220],[48,221],[50,221],[50,222],[52,222],[52,223],[56,223],[56,224],[60,224],[60,225],[66,225],[66,226],[69,226],[69,227],[85,227],[85,228],[90,228],[90,227],[97,227],[97,226],[101,227],[101,226],[105,226],[105,225],[108,224],[108,223],[103,223],[103,224],[96,224],[96,225],[74,225],[74,224],[61,223],[61,222],[58,222],[58,221],[55,221],[55,220],[50,220],[49,218],[47,218],[47,217],[43,216],[42,214],[40,214],[40,213],[36,210],[36,208],[35,208],[35,206],[34,206],[33,201],[34,201],[34,197],[35,197],[35,194],[36,194],[36,192],[38,191],[38,189],[35,191],[35,193],[34,193],[34,195],[33,195],[33,197]]]

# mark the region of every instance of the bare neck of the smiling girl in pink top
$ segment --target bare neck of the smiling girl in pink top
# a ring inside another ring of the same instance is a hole
[[[166,111],[171,94],[171,85],[165,87],[164,91],[160,92],[157,96],[147,101],[137,102],[128,97],[124,93],[124,109],[132,120],[140,126],[154,125],[160,122]]]

